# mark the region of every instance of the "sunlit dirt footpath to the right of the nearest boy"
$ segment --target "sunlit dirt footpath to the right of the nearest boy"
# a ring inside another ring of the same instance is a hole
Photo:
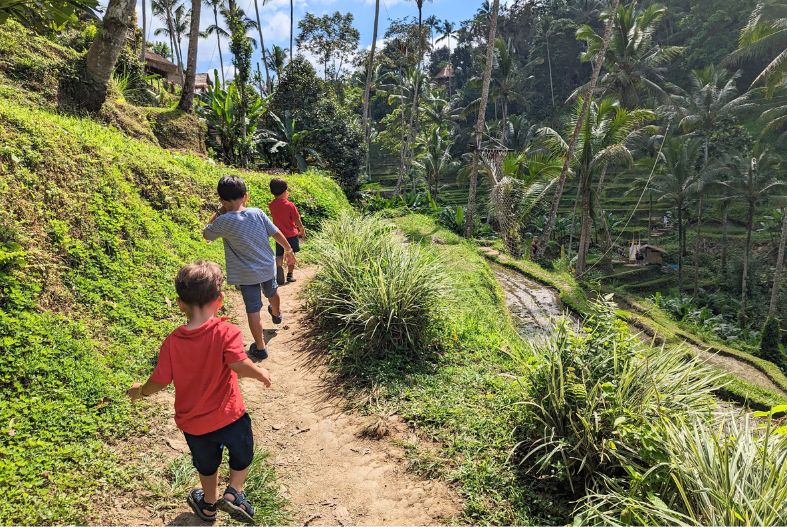
[[[297,282],[279,289],[284,323],[269,339],[273,386],[241,381],[254,423],[254,440],[271,453],[293,522],[330,525],[427,525],[445,523],[461,510],[445,483],[406,472],[401,449],[387,440],[358,437],[368,419],[343,412],[331,395],[327,371],[304,349],[300,293],[314,275],[298,270]],[[238,321],[243,302],[233,297]],[[270,327],[269,324],[267,324]],[[248,327],[244,339],[251,343]]]

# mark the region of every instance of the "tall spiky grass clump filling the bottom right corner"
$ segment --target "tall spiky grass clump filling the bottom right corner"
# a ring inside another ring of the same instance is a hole
[[[770,421],[666,423],[665,461],[627,485],[610,480],[578,516],[594,525],[784,525],[787,436]]]

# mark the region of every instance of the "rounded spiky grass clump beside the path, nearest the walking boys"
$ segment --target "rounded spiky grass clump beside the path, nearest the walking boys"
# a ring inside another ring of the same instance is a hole
[[[387,221],[344,213],[323,224],[314,248],[320,271],[307,306],[337,346],[358,361],[432,349],[448,291],[436,253],[410,245]]]

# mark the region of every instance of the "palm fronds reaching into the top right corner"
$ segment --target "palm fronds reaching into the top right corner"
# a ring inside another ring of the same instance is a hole
[[[738,50],[729,61],[743,63],[751,59],[770,61],[754,79],[752,87],[773,88],[783,82],[787,74],[787,5],[783,0],[758,2],[741,30]]]

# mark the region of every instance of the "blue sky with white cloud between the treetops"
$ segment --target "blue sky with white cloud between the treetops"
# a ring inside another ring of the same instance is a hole
[[[148,1],[149,0],[145,0]],[[189,0],[184,0],[189,3]],[[289,47],[289,19],[290,3],[289,0],[270,0],[263,7],[262,0],[258,0],[260,7],[260,18],[263,20],[263,37],[266,47],[272,44],[282,47]],[[247,15],[254,17],[254,1],[238,0],[239,5]],[[150,4],[148,4],[149,6]],[[435,15],[440,19],[447,19],[460,22],[470,18],[481,5],[481,0],[432,0],[424,4],[424,18]],[[355,27],[361,33],[361,46],[368,47],[372,41],[372,29],[374,24],[374,0],[295,0],[295,35],[298,34],[298,20],[303,18],[306,12],[322,15],[341,11],[342,13],[351,12],[354,17]],[[140,25],[142,24],[141,2],[137,2],[137,14]],[[413,0],[380,0],[380,29],[378,38],[382,38],[385,29],[388,27],[389,20],[404,16],[417,16],[418,10]],[[148,17],[150,19],[150,9]],[[202,21],[203,29],[213,23],[213,13],[209,8],[203,6]],[[221,19],[219,23],[222,23]],[[162,23],[153,19],[149,24],[152,29],[161,27]],[[155,37],[153,31],[149,30],[148,40],[166,40],[166,37]],[[256,32],[253,34],[257,38]],[[187,43],[182,44],[183,53],[186,53]],[[229,63],[228,43],[222,42],[222,51],[226,63]],[[260,51],[254,51],[254,60],[259,60]],[[184,57],[185,60],[185,57]],[[207,40],[200,40],[199,44],[199,67],[200,72],[208,71],[219,67],[219,55],[217,51],[216,39],[211,37]],[[232,66],[225,64],[225,69],[232,75]]]

